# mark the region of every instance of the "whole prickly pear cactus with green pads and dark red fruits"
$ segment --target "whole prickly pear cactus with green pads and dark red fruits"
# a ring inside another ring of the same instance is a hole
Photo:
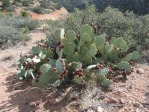
[[[38,44],[30,55],[20,58],[18,78],[32,79],[39,87],[59,86],[68,77],[77,84],[96,77],[102,86],[109,86],[118,75],[126,78],[133,72],[130,62],[139,58],[139,53],[127,54],[128,46],[122,37],[109,40],[106,34],[96,34],[94,26],[87,24],[80,34],[58,29],[55,47]]]

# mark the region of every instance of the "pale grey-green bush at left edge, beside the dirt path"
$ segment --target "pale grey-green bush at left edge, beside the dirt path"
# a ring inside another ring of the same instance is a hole
[[[28,30],[33,30],[39,25],[38,21],[29,18],[12,17],[0,13],[0,47],[7,47],[8,43],[15,44],[29,39]]]

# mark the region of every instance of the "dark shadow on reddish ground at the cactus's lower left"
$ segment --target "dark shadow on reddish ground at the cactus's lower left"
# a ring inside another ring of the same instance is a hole
[[[9,95],[9,100],[2,102],[0,110],[3,111],[17,111],[17,112],[35,112],[40,109],[41,111],[50,110],[51,112],[62,112],[62,108],[69,105],[70,102],[63,100],[55,106],[51,106],[48,102],[49,98],[55,95],[45,96],[41,89],[31,86],[30,82],[17,80],[16,75],[7,77],[7,92],[12,93]]]

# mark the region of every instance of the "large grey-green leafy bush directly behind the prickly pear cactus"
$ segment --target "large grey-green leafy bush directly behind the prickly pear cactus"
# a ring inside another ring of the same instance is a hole
[[[137,16],[128,11],[122,13],[111,7],[98,13],[95,6],[89,6],[83,11],[75,9],[67,18],[65,28],[78,31],[82,24],[95,24],[98,27],[97,33],[106,33],[109,37],[122,36],[130,50],[135,50],[149,48],[148,20],[148,15]]]

